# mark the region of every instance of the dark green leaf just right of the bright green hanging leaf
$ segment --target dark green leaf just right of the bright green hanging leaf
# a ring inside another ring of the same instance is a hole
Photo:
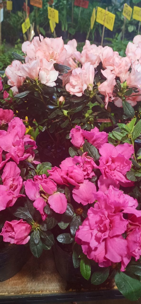
[[[91,276],[91,283],[93,285],[99,285],[105,282],[108,278],[110,267],[99,268],[99,271],[95,271]]]

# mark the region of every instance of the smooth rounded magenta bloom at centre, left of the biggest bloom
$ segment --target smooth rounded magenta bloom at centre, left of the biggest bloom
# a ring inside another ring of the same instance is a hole
[[[85,179],[83,183],[74,187],[72,190],[72,196],[77,203],[82,205],[92,204],[95,201],[96,186],[88,179]]]

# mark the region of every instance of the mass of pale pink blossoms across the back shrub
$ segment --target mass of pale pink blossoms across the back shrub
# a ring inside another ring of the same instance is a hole
[[[134,106],[137,101],[141,101],[141,96],[139,96],[141,93],[141,35],[136,36],[133,43],[128,43],[126,57],[119,56],[119,53],[113,51],[111,47],[91,45],[88,40],[80,53],[77,51],[75,39],[68,41],[65,45],[62,37],[43,39],[41,35],[40,38],[34,37],[32,42],[24,42],[22,51],[26,54],[26,63],[22,64],[15,60],[5,71],[14,95],[18,93],[18,87],[23,84],[26,77],[47,86],[56,85],[55,81],[59,73],[54,69],[53,64],[58,63],[70,67],[67,74],[59,76],[63,85],[66,85],[66,90],[72,95],[82,96],[86,89],[92,92],[95,68],[101,63],[101,78],[105,81],[98,83],[98,91],[105,96],[105,108],[108,102],[112,101],[116,106],[122,107],[122,100],[113,92],[116,77],[120,78],[121,83],[126,81],[127,86],[136,87],[139,90],[139,93],[127,96],[127,102]],[[130,67],[131,71],[129,71]],[[2,83],[0,85],[2,86]]]

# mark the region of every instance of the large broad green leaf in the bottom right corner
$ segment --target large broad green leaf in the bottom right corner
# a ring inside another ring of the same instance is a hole
[[[141,296],[141,283],[135,276],[120,271],[115,275],[115,284],[126,299],[137,301]]]

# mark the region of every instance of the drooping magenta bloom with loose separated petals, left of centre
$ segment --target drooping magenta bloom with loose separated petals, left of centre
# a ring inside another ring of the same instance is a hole
[[[48,202],[50,208],[57,213],[64,213],[67,209],[67,199],[63,193],[57,192],[57,184],[47,178],[45,174],[34,176],[33,180],[24,182],[26,195],[33,202],[33,206],[39,210],[42,219],[45,220],[47,214],[44,207]]]

